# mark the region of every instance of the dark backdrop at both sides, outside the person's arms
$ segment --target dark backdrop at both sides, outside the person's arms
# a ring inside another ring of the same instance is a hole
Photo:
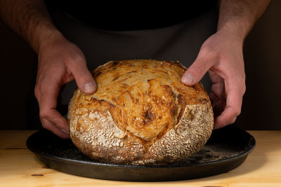
[[[247,91],[235,125],[281,130],[281,1],[273,0],[244,43]],[[0,22],[0,130],[26,130],[34,103],[37,55]],[[38,116],[34,116],[38,118]]]

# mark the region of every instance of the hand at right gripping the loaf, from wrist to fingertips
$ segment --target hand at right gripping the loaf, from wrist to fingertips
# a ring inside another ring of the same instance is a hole
[[[221,29],[203,43],[197,59],[181,78],[185,85],[194,85],[209,71],[214,129],[234,123],[240,115],[246,90],[242,46],[240,36]]]

